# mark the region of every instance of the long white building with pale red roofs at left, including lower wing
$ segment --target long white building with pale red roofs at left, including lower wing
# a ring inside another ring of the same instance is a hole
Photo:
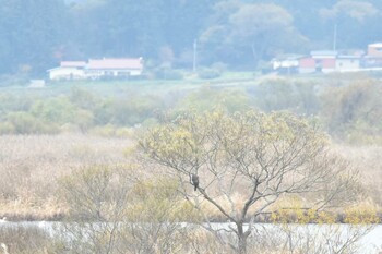
[[[98,80],[105,77],[140,76],[142,58],[104,58],[84,61],[63,61],[60,66],[47,71],[49,80]]]

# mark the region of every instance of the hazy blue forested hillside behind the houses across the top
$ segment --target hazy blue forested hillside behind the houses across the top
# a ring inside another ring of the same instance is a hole
[[[381,40],[378,0],[0,0],[0,73],[44,76],[60,60],[253,70],[283,53]],[[195,44],[196,43],[196,44]]]

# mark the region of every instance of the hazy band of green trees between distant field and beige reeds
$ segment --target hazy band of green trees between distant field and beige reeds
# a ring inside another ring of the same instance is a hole
[[[184,111],[219,108],[236,112],[255,108],[264,112],[287,110],[317,119],[339,142],[382,144],[380,82],[345,83],[271,78],[239,88],[206,85],[190,90],[153,86],[152,92],[138,85],[132,90],[106,83],[102,94],[79,86],[68,93],[55,92],[58,87],[40,94],[4,89],[0,95],[0,135],[92,132],[123,136],[131,134],[132,128],[160,124]]]

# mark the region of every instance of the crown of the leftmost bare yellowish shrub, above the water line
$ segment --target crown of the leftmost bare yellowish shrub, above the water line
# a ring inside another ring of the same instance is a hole
[[[95,165],[60,179],[61,193],[74,218],[111,220],[126,209],[130,166]]]

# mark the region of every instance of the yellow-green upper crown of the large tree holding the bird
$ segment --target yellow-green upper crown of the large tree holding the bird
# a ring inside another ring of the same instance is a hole
[[[329,144],[327,136],[318,132],[308,120],[287,112],[265,114],[254,110],[234,114],[223,110],[186,113],[176,124],[152,129],[140,144],[153,158],[184,166],[204,161],[214,142],[231,159],[243,148],[249,152],[249,147],[263,146],[264,152],[283,154],[288,153],[294,143],[295,146],[303,145],[299,150],[302,157],[302,154],[314,154]]]

